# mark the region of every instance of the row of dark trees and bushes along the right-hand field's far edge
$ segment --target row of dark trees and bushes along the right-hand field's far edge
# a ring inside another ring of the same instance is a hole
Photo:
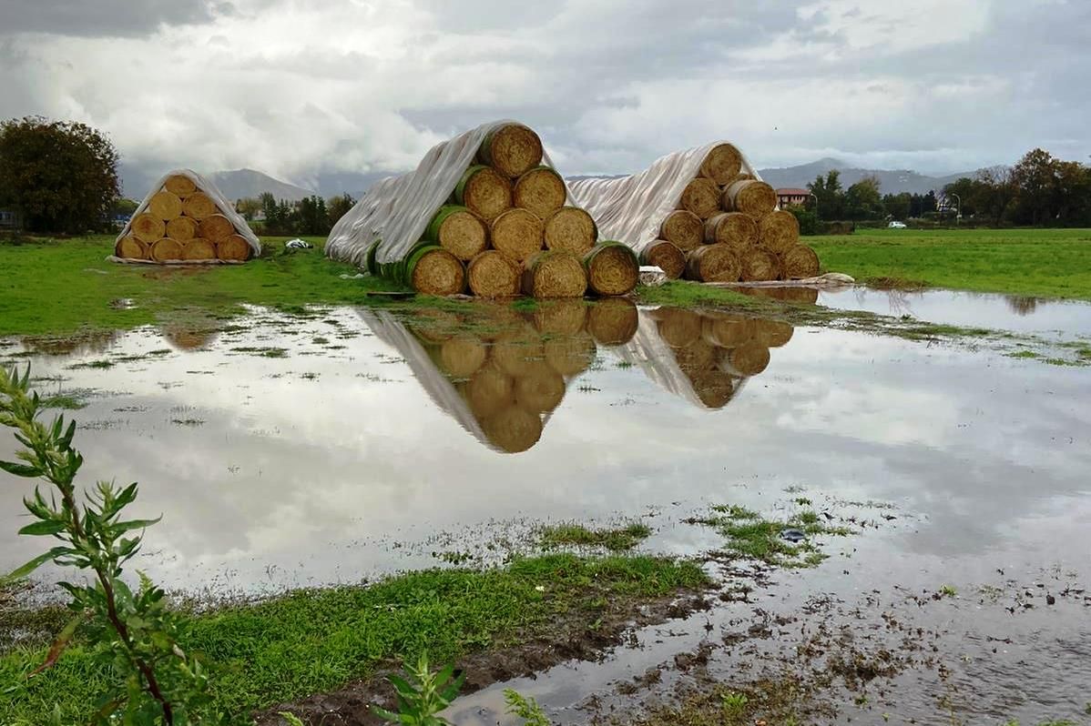
[[[843,189],[840,172],[819,174],[807,189],[815,203],[794,211],[806,232],[818,220],[972,219],[993,226],[1091,226],[1091,167],[1035,148],[1014,167],[982,169],[947,184],[939,194],[882,194],[865,177]]]

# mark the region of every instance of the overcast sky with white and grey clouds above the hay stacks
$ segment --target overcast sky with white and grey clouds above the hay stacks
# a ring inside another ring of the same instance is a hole
[[[567,174],[717,138],[757,167],[1087,161],[1088,28],[1088,0],[0,0],[0,117],[303,185],[505,117]]]

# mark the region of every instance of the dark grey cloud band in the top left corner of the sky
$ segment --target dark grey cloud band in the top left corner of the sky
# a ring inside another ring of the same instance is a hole
[[[3,0],[0,35],[48,33],[85,37],[146,35],[160,25],[211,22],[231,11],[208,0]]]

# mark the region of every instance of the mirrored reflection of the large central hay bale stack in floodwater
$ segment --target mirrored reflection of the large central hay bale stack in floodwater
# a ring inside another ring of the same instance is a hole
[[[533,313],[485,303],[461,314],[422,311],[406,322],[386,311],[360,315],[441,409],[505,453],[537,444],[598,349],[627,342],[638,322],[636,305],[624,298],[591,305],[555,300]]]

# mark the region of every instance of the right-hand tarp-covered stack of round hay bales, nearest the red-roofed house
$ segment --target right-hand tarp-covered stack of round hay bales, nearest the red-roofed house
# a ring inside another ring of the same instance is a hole
[[[621,179],[570,182],[576,203],[608,237],[671,279],[757,282],[814,277],[818,256],[800,243],[795,216],[727,142],[678,152]]]

